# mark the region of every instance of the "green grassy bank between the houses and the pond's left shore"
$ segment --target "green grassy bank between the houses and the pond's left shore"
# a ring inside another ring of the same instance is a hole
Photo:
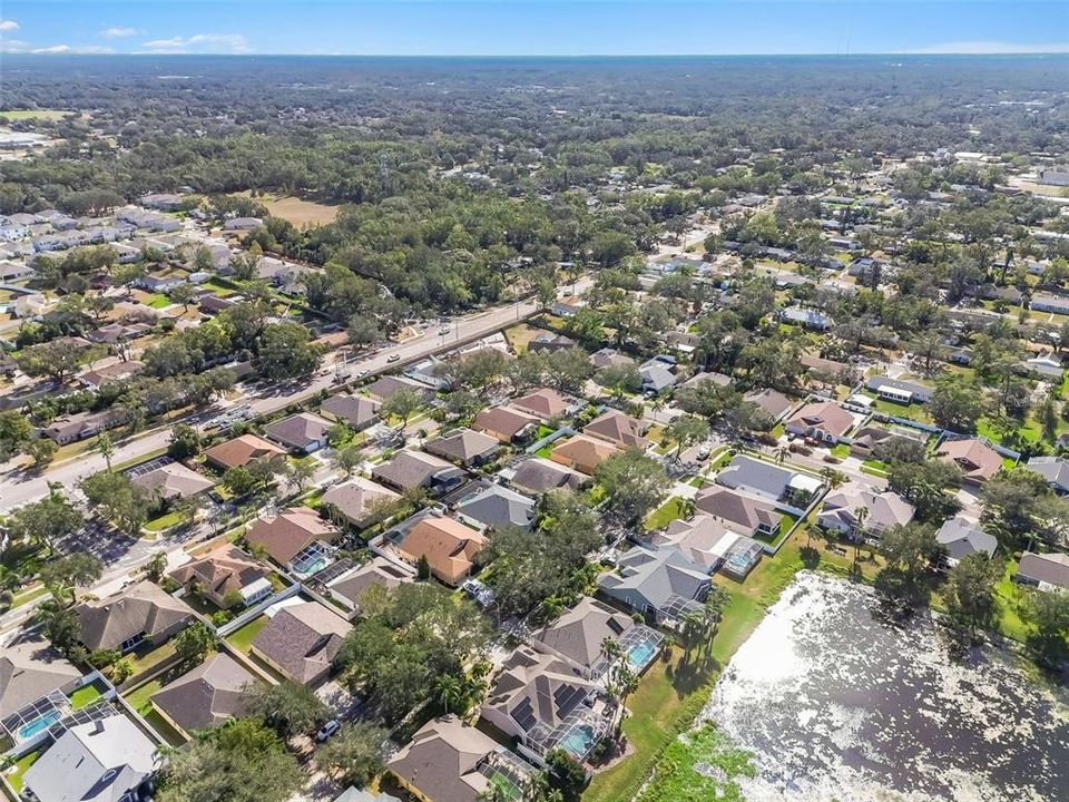
[[[730,603],[724,610],[708,658],[680,666],[681,652],[674,649],[669,662],[650,666],[638,691],[628,698],[631,715],[624,722],[635,754],[596,774],[582,795],[583,802],[622,802],[637,793],[664,750],[693,725],[723,666],[749,637],[795,574],[806,567],[802,560],[804,546],[804,527],[800,527],[775,557],[765,557],[751,571],[745,583],[719,575],[714,577],[727,589]],[[813,540],[812,548],[816,564],[810,567],[838,576],[849,574],[849,556],[828,551],[817,539]],[[865,579],[871,580],[879,564],[862,561],[861,567]]]

